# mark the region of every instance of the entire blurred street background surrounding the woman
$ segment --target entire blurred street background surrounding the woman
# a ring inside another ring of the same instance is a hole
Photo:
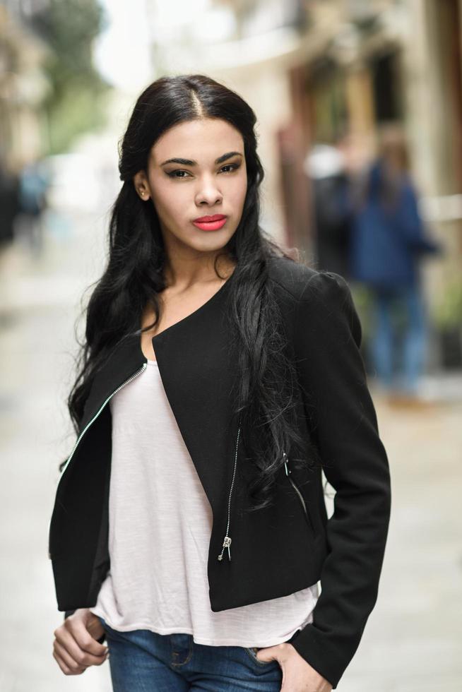
[[[261,225],[362,321],[393,506],[338,689],[462,691],[462,0],[0,0],[0,691],[110,691],[52,657],[66,397],[131,108],[199,72],[256,112]]]

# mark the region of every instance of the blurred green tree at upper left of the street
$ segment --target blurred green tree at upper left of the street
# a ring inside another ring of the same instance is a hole
[[[44,106],[50,153],[60,153],[76,136],[105,122],[110,86],[93,66],[92,53],[105,17],[97,0],[49,0],[33,25],[51,49],[45,70],[52,90]]]

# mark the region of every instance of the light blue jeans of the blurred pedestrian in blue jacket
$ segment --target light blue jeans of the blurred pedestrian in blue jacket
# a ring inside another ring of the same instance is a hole
[[[386,389],[415,394],[427,347],[425,305],[420,287],[373,290],[372,311],[370,353],[380,383]]]

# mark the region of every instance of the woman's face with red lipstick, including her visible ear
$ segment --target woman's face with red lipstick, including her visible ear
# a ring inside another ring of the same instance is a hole
[[[141,199],[155,206],[167,251],[218,251],[237,229],[244,207],[242,135],[220,119],[176,125],[153,145],[148,169],[136,174],[134,184]],[[194,225],[212,215],[224,216],[225,222]]]

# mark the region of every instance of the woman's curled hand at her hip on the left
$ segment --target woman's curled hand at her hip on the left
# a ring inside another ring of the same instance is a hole
[[[53,656],[64,675],[80,675],[107,659],[107,646],[97,642],[104,630],[97,616],[80,608],[54,631]]]

